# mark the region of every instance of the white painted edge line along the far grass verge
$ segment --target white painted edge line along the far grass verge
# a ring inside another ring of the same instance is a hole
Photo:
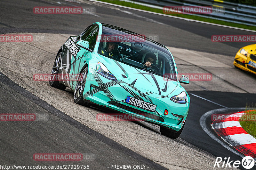
[[[214,23],[198,21],[198,20],[188,19],[188,18],[181,18],[181,17],[172,16],[172,15],[166,15],[166,14],[161,14],[161,13],[156,13],[156,12],[151,12],[151,11],[145,11],[145,10],[140,10],[140,9],[136,9],[136,8],[131,8],[131,7],[126,7],[126,6],[122,6],[122,5],[111,4],[111,3],[102,2],[102,1],[96,1],[96,0],[86,0],[86,1],[92,1],[92,2],[97,2],[97,3],[101,3],[101,4],[108,4],[108,5],[113,5],[113,6],[117,6],[117,7],[121,7],[121,8],[127,8],[127,9],[130,9],[130,10],[136,10],[136,11],[142,11],[142,12],[147,12],[147,13],[151,13],[151,14],[161,15],[161,16],[165,16],[165,17],[183,19],[183,20],[186,20],[186,21],[194,21],[194,22],[198,22],[198,23],[204,23],[204,24],[209,24],[209,25],[216,25],[216,26],[221,26],[221,27],[233,28],[233,29],[237,29],[237,30],[256,32],[254,30],[248,30],[248,29],[244,29],[244,28],[237,28],[237,27],[227,26],[227,25],[214,24]]]

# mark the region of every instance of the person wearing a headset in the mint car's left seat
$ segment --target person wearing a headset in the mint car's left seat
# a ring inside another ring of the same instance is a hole
[[[100,54],[111,57],[113,59],[117,59],[119,57],[117,47],[119,43],[118,42],[111,42],[109,41],[108,37],[106,38],[106,47],[104,48],[102,45]]]

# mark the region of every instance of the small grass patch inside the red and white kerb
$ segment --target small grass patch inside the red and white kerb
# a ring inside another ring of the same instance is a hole
[[[245,116],[254,115],[254,117],[255,117],[256,116],[256,110],[245,112],[244,115]],[[239,123],[241,124],[242,128],[244,128],[244,130],[247,131],[247,133],[249,133],[254,138],[256,138],[256,121],[255,121],[255,118],[254,118],[254,121],[244,121],[243,119],[246,119],[246,118],[241,117],[239,119]]]

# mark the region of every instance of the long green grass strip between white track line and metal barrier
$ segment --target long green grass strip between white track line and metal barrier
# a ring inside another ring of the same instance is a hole
[[[163,10],[150,8],[150,7],[143,6],[143,5],[137,5],[137,4],[133,4],[133,3],[129,3],[129,2],[124,2],[124,1],[119,1],[119,0],[100,0],[100,1],[163,14]],[[193,16],[193,15],[186,15],[186,14],[167,14],[167,15],[188,18],[188,19],[195,19],[198,21],[210,22],[210,23],[214,23],[214,24],[227,25],[227,26],[244,28],[244,29],[249,29],[249,30],[256,30],[255,26],[236,24],[236,23],[232,23],[232,22],[220,21],[217,19],[209,19],[209,18],[198,17],[198,16]]]

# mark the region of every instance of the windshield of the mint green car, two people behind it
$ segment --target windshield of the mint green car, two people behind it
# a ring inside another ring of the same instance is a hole
[[[172,56],[166,47],[134,32],[102,25],[100,55],[177,81]],[[144,65],[147,61],[151,62],[151,67]]]

